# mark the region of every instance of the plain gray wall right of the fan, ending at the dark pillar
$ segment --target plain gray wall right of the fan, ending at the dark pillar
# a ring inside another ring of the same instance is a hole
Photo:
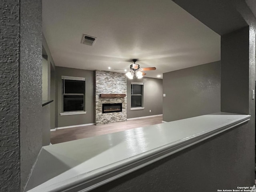
[[[220,112],[220,61],[163,74],[163,120]]]

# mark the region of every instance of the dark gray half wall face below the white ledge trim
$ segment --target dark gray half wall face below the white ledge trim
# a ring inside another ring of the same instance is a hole
[[[248,123],[100,186],[91,192],[217,192],[254,185]]]

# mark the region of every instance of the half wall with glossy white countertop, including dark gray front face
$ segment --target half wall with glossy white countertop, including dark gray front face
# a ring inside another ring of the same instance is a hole
[[[253,186],[249,120],[217,113],[45,146],[26,190],[210,192]]]

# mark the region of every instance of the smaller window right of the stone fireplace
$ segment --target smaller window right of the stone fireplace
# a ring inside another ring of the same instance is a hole
[[[143,83],[141,82],[132,82],[132,90],[131,90],[131,103],[133,107],[142,108],[143,105]]]

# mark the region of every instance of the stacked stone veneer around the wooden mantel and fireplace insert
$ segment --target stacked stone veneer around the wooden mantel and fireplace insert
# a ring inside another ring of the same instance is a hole
[[[122,73],[96,70],[95,123],[108,124],[126,120],[127,96],[101,98],[100,94],[127,94],[127,80]],[[102,104],[122,103],[122,112],[102,113]]]

